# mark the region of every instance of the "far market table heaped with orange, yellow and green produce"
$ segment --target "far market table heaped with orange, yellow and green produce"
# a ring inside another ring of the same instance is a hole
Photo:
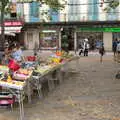
[[[67,67],[67,64],[69,62],[76,60],[76,59],[78,59],[77,56],[73,56],[72,54],[68,54],[66,52],[58,51],[50,55],[46,61],[40,62],[40,65],[38,65],[34,69],[33,76],[39,75],[39,77],[37,76],[36,79],[40,81],[43,77],[46,77],[48,80],[48,87],[51,88],[54,86],[55,79],[58,80],[59,83],[63,81],[62,70],[65,67]],[[51,76],[52,74],[54,76],[56,74],[56,78],[52,78]]]

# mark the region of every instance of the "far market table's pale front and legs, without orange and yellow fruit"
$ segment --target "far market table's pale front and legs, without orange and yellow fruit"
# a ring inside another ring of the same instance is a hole
[[[58,80],[59,83],[62,83],[63,81],[63,75],[62,75],[62,68],[66,67],[67,64],[71,61],[77,60],[79,57],[74,56],[72,58],[66,59],[62,63],[59,64],[53,64],[53,65],[46,65],[41,66],[39,70],[35,70],[36,73],[39,73],[38,76],[34,76],[34,78],[39,81],[37,83],[40,83],[43,78],[46,78],[48,80],[48,86],[49,90],[52,90],[54,88],[54,80]],[[78,62],[76,61],[76,65],[78,66]],[[51,74],[56,71],[57,75],[56,78],[52,78]],[[39,85],[39,84],[37,84]],[[37,86],[38,88],[38,86]]]

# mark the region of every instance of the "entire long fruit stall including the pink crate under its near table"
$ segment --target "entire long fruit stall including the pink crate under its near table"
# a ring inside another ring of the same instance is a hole
[[[48,56],[45,61],[34,56],[27,58],[21,65],[15,64],[13,61],[8,66],[0,65],[0,104],[10,104],[12,106],[14,102],[18,102],[20,120],[24,118],[24,97],[26,95],[28,102],[31,103],[31,96],[34,94],[33,86],[37,90],[38,97],[41,98],[41,81],[47,79],[49,90],[54,89],[54,79],[58,80],[59,83],[63,81],[61,68],[65,67],[70,61],[78,59],[78,57],[63,51],[57,51]],[[53,77],[52,75],[55,72],[56,75]],[[9,97],[9,95],[12,97]],[[9,100],[12,102],[9,103]]]

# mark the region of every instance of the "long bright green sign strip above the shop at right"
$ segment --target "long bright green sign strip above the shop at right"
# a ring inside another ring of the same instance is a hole
[[[120,32],[120,28],[114,28],[114,27],[103,27],[103,28],[84,27],[84,28],[77,29],[77,31]]]

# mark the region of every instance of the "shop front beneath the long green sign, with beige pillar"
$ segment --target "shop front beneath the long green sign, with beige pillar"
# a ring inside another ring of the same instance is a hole
[[[76,30],[77,46],[85,38],[88,38],[90,50],[98,49],[101,42],[106,51],[112,51],[112,43],[116,38],[120,39],[120,28],[116,27],[81,27]]]

